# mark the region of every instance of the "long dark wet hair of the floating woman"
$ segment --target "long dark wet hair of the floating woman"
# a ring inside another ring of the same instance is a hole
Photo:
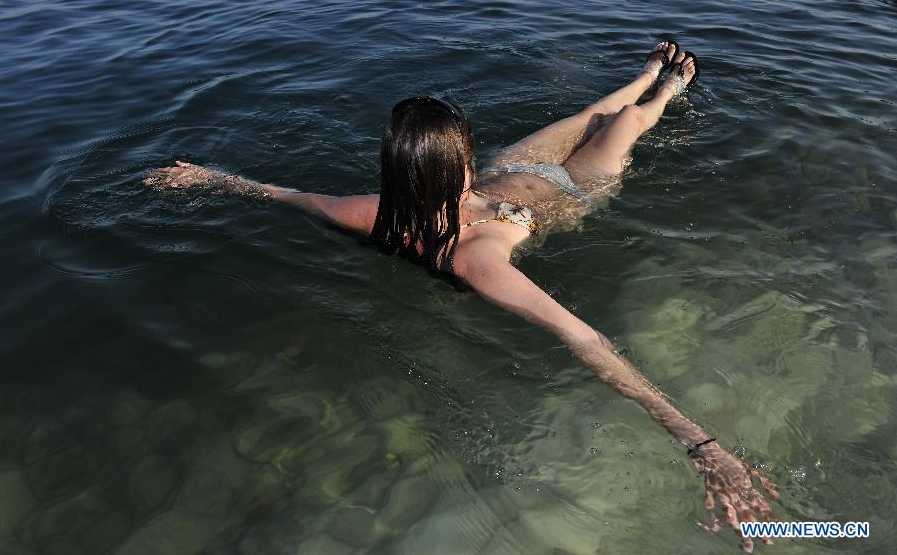
[[[431,271],[451,264],[461,233],[473,133],[464,112],[429,97],[403,100],[380,141],[380,205],[371,240]],[[420,249],[420,252],[418,252]]]

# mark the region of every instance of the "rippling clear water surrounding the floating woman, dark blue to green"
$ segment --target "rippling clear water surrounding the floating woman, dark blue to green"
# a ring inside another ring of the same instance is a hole
[[[735,552],[699,476],[531,325],[172,160],[377,187],[391,105],[479,158],[675,37],[688,102],[608,210],[520,266],[769,469],[784,520],[897,518],[892,2],[0,8],[0,547],[11,553]],[[598,424],[596,427],[595,425]]]

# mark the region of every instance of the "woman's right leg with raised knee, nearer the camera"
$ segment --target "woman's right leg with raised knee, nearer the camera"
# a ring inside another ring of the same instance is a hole
[[[682,62],[683,58],[680,53],[675,61]],[[682,70],[682,78],[685,82],[690,81],[695,74],[694,59],[688,58],[682,62]],[[681,86],[680,78],[671,72],[654,98],[639,106],[624,106],[566,161],[564,166],[573,181],[580,184],[589,178],[613,176],[623,171],[623,163],[635,141],[654,127],[667,102],[681,92]]]

